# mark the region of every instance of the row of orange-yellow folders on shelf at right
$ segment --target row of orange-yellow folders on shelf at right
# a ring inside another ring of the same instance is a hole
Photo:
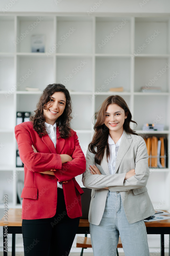
[[[165,137],[157,138],[155,136],[144,138],[149,155],[149,167],[165,168],[167,167],[167,139]]]

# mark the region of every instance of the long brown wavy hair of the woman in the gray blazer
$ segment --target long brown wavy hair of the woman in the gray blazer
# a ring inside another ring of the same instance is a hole
[[[123,129],[127,133],[135,134],[131,128],[130,128],[130,122],[136,123],[135,121],[132,120],[132,115],[130,113],[130,110],[125,102],[125,100],[120,97],[119,95],[112,95],[109,96],[101,105],[100,110],[97,112],[97,120],[94,125],[94,135],[91,143],[89,144],[89,151],[95,154],[95,162],[97,164],[101,164],[101,161],[104,156],[104,152],[106,149],[106,157],[107,159],[110,157],[110,150],[108,146],[108,135],[109,135],[109,129],[108,127],[104,124],[105,119],[106,119],[106,109],[108,105],[110,104],[117,104],[119,107],[124,109],[125,115],[127,118],[125,119],[125,122],[123,124]],[[136,123],[137,125],[137,123]],[[95,147],[97,147],[97,152],[95,151]]]

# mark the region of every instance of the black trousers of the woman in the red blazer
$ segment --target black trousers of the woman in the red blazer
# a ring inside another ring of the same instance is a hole
[[[57,188],[57,210],[54,217],[22,220],[24,255],[68,256],[79,220],[79,217],[68,217],[63,189]]]

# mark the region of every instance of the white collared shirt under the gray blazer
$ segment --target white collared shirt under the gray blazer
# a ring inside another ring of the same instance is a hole
[[[123,134],[124,134],[124,131],[122,133],[122,136]],[[108,136],[108,144],[110,149],[110,159],[108,158],[108,167],[109,167],[110,174],[115,174],[116,156],[120,146],[120,142],[122,140],[122,136],[119,138],[116,144],[112,140],[111,136],[110,135]]]

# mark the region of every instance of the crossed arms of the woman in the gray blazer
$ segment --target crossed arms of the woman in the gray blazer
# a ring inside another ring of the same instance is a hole
[[[108,187],[115,191],[127,191],[145,187],[149,177],[148,154],[146,143],[138,136],[136,145],[135,170],[127,173],[102,174],[95,166],[94,154],[87,150],[86,171],[83,173],[82,182],[85,187],[101,189]],[[94,165],[93,165],[94,164]],[[89,166],[90,165],[90,166]],[[94,177],[94,174],[96,177]]]

